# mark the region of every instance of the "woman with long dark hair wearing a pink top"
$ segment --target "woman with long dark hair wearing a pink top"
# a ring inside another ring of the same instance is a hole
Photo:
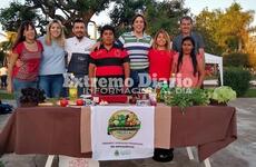
[[[185,37],[181,46],[183,50],[175,56],[171,70],[176,73],[177,87],[200,88],[205,78],[203,56],[195,53],[191,37]]]

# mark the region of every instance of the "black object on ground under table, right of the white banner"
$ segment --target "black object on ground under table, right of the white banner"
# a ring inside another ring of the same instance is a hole
[[[155,148],[152,159],[161,163],[171,161],[174,159],[174,148],[170,149]]]

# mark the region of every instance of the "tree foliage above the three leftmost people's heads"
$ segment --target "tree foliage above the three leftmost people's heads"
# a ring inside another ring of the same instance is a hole
[[[43,33],[49,19],[59,19],[70,33],[71,23],[75,19],[82,19],[87,26],[95,13],[108,8],[110,1],[26,0],[24,4],[11,2],[9,8],[1,9],[0,22],[4,30],[17,31],[22,20],[33,20]]]

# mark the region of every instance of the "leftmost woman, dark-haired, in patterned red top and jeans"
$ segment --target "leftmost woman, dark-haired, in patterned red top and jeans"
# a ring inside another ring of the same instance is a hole
[[[14,91],[17,102],[23,88],[37,88],[42,45],[36,40],[36,28],[31,21],[21,23],[8,66],[8,92]],[[19,59],[19,63],[17,60]]]

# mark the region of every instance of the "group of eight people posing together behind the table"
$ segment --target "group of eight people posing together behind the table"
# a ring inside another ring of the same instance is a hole
[[[52,20],[46,36],[38,39],[33,23],[24,21],[10,56],[8,91],[19,98],[22,88],[32,87],[43,89],[48,98],[58,98],[66,82],[63,73],[72,73],[79,96],[88,89],[99,94],[111,94],[109,88],[134,92],[147,80],[154,87],[154,81],[168,82],[171,77],[178,87],[200,88],[204,41],[193,32],[191,18],[180,19],[180,35],[173,41],[164,29],[151,38],[145,32],[146,26],[144,16],[136,14],[132,30],[116,39],[115,28],[106,24],[96,42],[86,37],[86,24],[79,19],[69,39],[59,20]]]

